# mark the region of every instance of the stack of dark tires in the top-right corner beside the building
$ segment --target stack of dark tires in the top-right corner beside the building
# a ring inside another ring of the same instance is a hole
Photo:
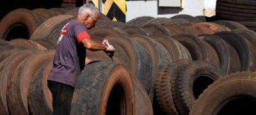
[[[256,1],[252,0],[218,0],[216,17],[233,20],[256,31]]]

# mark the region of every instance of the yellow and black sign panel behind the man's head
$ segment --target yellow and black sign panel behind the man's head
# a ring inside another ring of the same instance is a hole
[[[99,8],[99,0],[92,0]],[[125,0],[102,0],[102,13],[111,20],[125,22],[126,5]]]

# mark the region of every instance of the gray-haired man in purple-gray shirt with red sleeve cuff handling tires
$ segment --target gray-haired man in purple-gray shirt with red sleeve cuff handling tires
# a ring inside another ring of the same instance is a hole
[[[74,86],[84,68],[86,49],[104,50],[110,56],[115,51],[107,39],[102,44],[97,43],[87,33],[98,19],[99,10],[93,4],[84,4],[79,8],[77,19],[68,22],[61,31],[54,65],[48,77],[48,88],[53,98],[53,114],[70,114]]]

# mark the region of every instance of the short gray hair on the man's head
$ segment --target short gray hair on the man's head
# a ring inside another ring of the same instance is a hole
[[[95,17],[96,13],[99,13],[99,10],[94,4],[88,3],[81,6],[78,10],[78,15],[83,16],[85,13],[90,13],[92,17]]]

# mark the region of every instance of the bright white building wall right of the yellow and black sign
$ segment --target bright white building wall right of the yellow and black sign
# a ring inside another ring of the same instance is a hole
[[[141,16],[170,18],[178,14],[204,15],[204,1],[207,0],[182,0],[182,8],[159,7],[157,0],[126,1],[126,22]]]

